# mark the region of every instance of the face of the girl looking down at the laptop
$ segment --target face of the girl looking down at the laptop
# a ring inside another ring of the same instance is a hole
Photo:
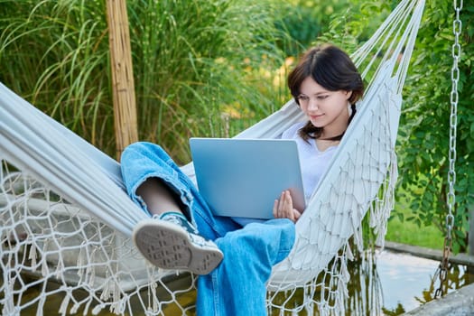
[[[327,90],[311,77],[302,81],[300,91],[300,107],[312,125],[322,128],[321,138],[340,135],[347,129],[351,91]]]

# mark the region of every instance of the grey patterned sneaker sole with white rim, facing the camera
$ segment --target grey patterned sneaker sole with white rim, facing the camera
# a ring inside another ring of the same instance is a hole
[[[188,232],[166,221],[144,221],[134,229],[133,240],[142,255],[163,269],[209,274],[222,261],[218,248],[195,246]]]

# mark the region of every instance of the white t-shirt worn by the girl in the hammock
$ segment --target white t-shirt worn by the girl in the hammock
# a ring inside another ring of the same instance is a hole
[[[306,122],[300,122],[292,125],[283,132],[282,139],[294,139],[298,145],[298,153],[300,156],[300,164],[302,167],[302,185],[304,188],[304,199],[306,202],[310,200],[312,192],[316,189],[321,176],[330,165],[333,154],[336,152],[337,146],[330,146],[324,152],[321,152],[316,145],[316,141],[312,138],[304,141],[299,130]],[[265,219],[258,218],[232,218],[242,226],[246,226],[252,222],[263,222]]]

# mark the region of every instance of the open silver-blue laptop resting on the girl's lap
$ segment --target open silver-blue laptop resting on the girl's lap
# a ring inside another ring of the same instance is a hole
[[[200,193],[215,215],[273,218],[284,190],[294,209],[305,208],[295,141],[191,138],[190,145]]]

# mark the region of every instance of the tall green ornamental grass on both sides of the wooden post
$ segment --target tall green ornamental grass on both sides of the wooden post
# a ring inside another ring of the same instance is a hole
[[[274,3],[127,1],[141,140],[186,163],[191,135],[235,135],[289,98]],[[0,69],[6,86],[115,153],[105,0],[0,0]]]

